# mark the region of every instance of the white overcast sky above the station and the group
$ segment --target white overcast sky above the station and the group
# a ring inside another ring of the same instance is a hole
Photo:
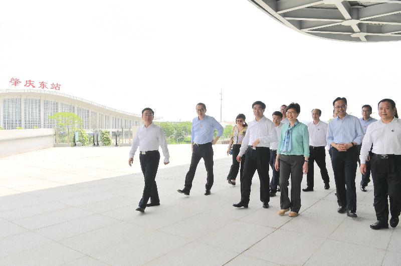
[[[0,89],[11,78],[61,84],[60,91],[115,109],[155,109],[191,120],[195,104],[223,120],[253,119],[298,102],[301,120],[337,96],[360,117],[363,104],[399,93],[400,42],[346,43],[306,36],[247,0],[3,1]],[[398,78],[397,78],[398,77]],[[13,87],[14,88],[14,87]],[[377,117],[377,114],[373,114]]]

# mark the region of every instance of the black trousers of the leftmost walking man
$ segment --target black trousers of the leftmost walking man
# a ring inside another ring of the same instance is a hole
[[[150,202],[159,203],[159,193],[157,192],[156,173],[159,167],[160,153],[152,152],[147,154],[139,154],[139,162],[143,176],[145,177],[145,187],[143,188],[142,198],[139,201],[139,207],[145,208],[150,198]]]

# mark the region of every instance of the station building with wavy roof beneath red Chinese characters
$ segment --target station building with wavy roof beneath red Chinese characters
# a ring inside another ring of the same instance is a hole
[[[49,116],[58,112],[77,114],[86,130],[135,129],[142,124],[140,115],[55,91],[0,90],[0,127],[3,129],[55,128],[55,121]]]

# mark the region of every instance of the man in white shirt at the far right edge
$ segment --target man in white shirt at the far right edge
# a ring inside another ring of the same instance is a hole
[[[395,103],[383,99],[378,103],[380,120],[371,123],[363,137],[360,150],[360,172],[366,173],[369,160],[374,189],[374,210],[377,221],[372,229],[388,228],[388,201],[390,201],[390,225],[395,227],[401,212],[401,120],[398,119]],[[373,146],[372,146],[373,145]]]

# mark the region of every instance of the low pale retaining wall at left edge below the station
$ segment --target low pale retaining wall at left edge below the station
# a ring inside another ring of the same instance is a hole
[[[0,130],[0,158],[52,147],[52,128]]]

